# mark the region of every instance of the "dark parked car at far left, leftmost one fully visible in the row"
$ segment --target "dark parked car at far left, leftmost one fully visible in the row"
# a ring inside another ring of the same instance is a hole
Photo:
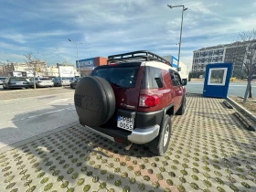
[[[29,83],[25,78],[12,77],[6,78],[3,82],[4,89],[14,89],[14,88],[29,88]]]

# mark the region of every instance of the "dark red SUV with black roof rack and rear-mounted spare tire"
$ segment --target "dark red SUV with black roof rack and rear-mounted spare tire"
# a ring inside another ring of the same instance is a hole
[[[77,84],[74,99],[80,123],[112,141],[146,144],[164,155],[171,116],[186,108],[187,79],[165,59],[149,51],[108,57]]]

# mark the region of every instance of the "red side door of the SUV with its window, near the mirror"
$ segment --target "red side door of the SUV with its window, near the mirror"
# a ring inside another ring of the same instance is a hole
[[[176,112],[179,109],[181,101],[182,101],[183,87],[182,87],[182,83],[181,83],[179,74],[175,70],[172,70],[172,69],[170,69],[169,72],[171,75],[171,80],[172,80],[173,88],[175,91],[174,104],[175,104],[175,112]]]

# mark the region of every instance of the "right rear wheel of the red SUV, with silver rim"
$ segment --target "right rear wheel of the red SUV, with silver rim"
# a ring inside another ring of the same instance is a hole
[[[149,150],[155,155],[163,156],[168,149],[172,132],[172,120],[169,115],[165,114],[164,122],[160,130],[161,133],[159,135],[157,147],[150,146]]]

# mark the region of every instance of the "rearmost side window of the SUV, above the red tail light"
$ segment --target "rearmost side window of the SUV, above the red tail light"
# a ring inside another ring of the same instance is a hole
[[[141,88],[163,88],[162,70],[159,68],[145,66]]]

